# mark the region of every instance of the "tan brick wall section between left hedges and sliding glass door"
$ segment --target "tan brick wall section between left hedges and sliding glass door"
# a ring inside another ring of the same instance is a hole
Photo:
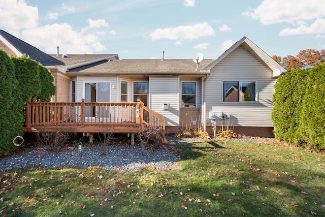
[[[53,75],[54,85],[56,86],[56,93],[54,96],[54,102],[70,102],[70,79],[60,76],[58,74]]]

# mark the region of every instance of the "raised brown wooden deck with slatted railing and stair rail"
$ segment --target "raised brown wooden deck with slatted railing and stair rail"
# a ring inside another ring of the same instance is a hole
[[[27,103],[24,132],[139,133],[142,125],[161,127],[165,117],[137,103]]]

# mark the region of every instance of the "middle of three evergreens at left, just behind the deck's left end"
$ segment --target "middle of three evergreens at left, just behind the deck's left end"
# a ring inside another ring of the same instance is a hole
[[[15,64],[16,78],[19,82],[23,102],[34,101],[41,93],[40,68],[37,61],[26,56],[13,57]]]

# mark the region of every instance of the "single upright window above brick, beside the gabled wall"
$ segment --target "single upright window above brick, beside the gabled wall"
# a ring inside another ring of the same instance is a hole
[[[182,82],[182,108],[197,107],[197,82]]]

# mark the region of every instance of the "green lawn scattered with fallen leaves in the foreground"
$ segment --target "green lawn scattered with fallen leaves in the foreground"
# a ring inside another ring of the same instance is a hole
[[[2,216],[325,216],[324,154],[209,140],[176,144],[169,171],[0,173]]]

